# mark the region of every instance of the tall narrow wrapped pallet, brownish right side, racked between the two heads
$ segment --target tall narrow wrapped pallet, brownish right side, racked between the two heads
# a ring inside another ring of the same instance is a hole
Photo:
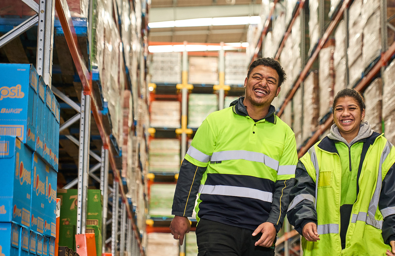
[[[303,130],[302,141],[316,130],[320,116],[318,72],[310,72],[303,83]]]

